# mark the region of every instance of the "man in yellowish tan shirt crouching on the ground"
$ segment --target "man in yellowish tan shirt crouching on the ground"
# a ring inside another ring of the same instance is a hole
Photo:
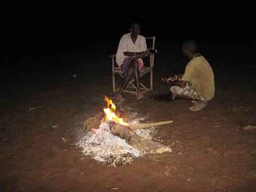
[[[170,91],[175,96],[191,99],[194,106],[191,111],[200,111],[214,97],[213,70],[200,53],[197,53],[197,43],[194,40],[185,41],[182,45],[183,55],[190,60],[186,64],[184,74],[175,74],[170,78],[162,78],[165,83],[170,83]],[[177,81],[176,81],[177,80]]]

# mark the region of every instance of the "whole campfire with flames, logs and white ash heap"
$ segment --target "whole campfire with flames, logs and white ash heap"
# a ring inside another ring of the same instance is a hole
[[[158,123],[127,123],[116,114],[116,105],[111,99],[105,97],[105,102],[107,107],[103,109],[104,113],[101,112],[84,122],[83,131],[87,134],[80,146],[84,148],[85,155],[116,166],[131,164],[134,158],[147,153],[172,152],[169,147],[148,139],[149,130],[144,130],[172,123],[171,120]]]

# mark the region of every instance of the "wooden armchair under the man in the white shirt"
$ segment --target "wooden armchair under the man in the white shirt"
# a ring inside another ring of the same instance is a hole
[[[155,49],[155,43],[156,43],[156,37],[155,36],[153,36],[153,37],[145,37],[145,39],[147,40],[147,49],[148,49],[148,51],[154,50]],[[149,41],[151,41],[151,42],[149,43]],[[109,56],[109,58],[111,58],[111,62],[112,62],[112,82],[113,82],[113,92],[114,93],[119,90],[119,89],[116,89],[116,78],[115,78],[115,75],[119,74],[121,77],[124,78],[124,75],[121,72],[121,68],[116,64],[115,57],[116,57],[116,55]],[[149,66],[146,66],[148,64],[147,60],[149,60],[148,61],[149,62]],[[153,66],[154,66],[154,60],[155,60],[155,53],[153,53],[151,56],[145,57],[143,59],[144,66],[140,70],[140,79],[141,79],[141,77],[145,76],[145,74],[150,73],[150,87],[145,86],[140,81],[140,86],[141,86],[142,93],[145,93],[147,91],[150,91],[150,90],[152,91],[153,90]],[[137,93],[137,87],[136,87],[136,85],[133,84],[133,82],[135,82],[134,79],[129,81],[129,83],[128,83],[127,87],[125,88],[124,92],[132,93],[132,94],[136,94]],[[129,90],[129,89],[132,89],[132,90]]]

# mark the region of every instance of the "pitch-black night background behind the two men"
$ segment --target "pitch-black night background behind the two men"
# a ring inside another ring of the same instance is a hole
[[[174,62],[187,39],[196,40],[210,61],[255,61],[255,11],[248,3],[134,3],[137,7],[99,1],[6,3],[1,7],[1,77],[31,70],[76,73],[97,63],[110,68],[108,55],[116,52],[133,20],[141,23],[141,35],[156,36],[159,66]]]

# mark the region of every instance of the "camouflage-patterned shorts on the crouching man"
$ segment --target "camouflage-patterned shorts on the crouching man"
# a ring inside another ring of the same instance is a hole
[[[170,91],[172,91],[173,98],[176,95],[182,95],[192,99],[200,99],[201,101],[205,101],[204,97],[198,93],[196,87],[194,87],[190,82],[188,82],[185,87],[172,86],[170,87]]]

